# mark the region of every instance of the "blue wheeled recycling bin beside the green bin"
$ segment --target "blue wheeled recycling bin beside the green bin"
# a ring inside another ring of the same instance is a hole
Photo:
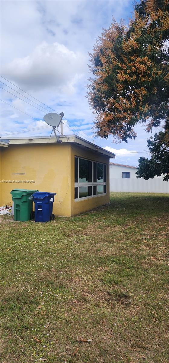
[[[47,192],[33,193],[35,222],[48,222],[55,219],[55,215],[52,213],[55,195],[56,193]]]

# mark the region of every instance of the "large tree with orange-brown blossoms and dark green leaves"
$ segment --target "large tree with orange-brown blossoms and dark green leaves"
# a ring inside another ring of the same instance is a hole
[[[138,177],[145,179],[168,174],[168,27],[168,0],[141,0],[128,26],[114,20],[90,54],[88,99],[97,113],[96,134],[127,142],[136,138],[138,123],[147,132],[161,128],[148,140],[150,160],[139,159]]]

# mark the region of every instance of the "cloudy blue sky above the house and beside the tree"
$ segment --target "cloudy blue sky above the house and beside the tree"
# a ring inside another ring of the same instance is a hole
[[[145,151],[149,135],[143,126],[136,127],[137,139],[127,144],[114,143],[111,137],[94,138],[95,116],[85,97],[88,52],[92,51],[102,28],[110,26],[112,17],[117,21],[125,19],[127,23],[133,3],[131,0],[1,1],[0,74],[5,78],[0,77],[0,99],[5,101],[0,101],[1,139],[50,135],[51,128],[43,116],[53,109],[64,112],[64,134],[94,140],[117,153],[115,162],[136,166],[140,156],[148,157]]]

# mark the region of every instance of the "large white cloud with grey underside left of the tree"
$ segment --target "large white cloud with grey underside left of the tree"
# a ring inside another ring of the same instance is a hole
[[[2,67],[5,76],[26,90],[48,89],[72,94],[87,69],[86,57],[58,42],[43,41],[31,54]]]

